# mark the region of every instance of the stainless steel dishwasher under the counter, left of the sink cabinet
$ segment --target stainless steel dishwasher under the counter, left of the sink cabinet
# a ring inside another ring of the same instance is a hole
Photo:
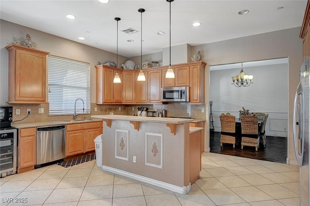
[[[37,127],[37,165],[65,158],[64,125]]]

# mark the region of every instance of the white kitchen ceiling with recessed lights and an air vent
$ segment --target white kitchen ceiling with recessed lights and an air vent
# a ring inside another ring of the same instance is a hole
[[[202,45],[302,25],[307,0],[174,0],[171,2],[171,46]],[[283,9],[278,10],[278,7]],[[0,0],[0,18],[125,57],[161,52],[169,47],[169,2],[166,0]],[[237,15],[248,9],[247,15]],[[76,19],[67,19],[72,14]],[[192,23],[199,21],[200,27]],[[121,30],[133,28],[138,33]],[[157,35],[165,32],[165,35]],[[30,33],[31,35],[31,33]],[[84,36],[86,40],[78,40]],[[133,39],[133,43],[127,42]],[[32,39],[35,42],[35,39]]]

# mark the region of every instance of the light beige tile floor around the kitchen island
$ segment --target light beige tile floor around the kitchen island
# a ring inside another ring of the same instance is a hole
[[[70,168],[55,164],[0,178],[0,205],[298,206],[298,170],[294,165],[203,153],[201,177],[182,195],[105,172],[95,160]]]

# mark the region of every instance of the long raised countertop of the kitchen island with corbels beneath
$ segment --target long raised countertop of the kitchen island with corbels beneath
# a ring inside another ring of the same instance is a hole
[[[192,122],[193,119],[186,118],[170,118],[170,117],[148,117],[148,116],[130,116],[130,115],[92,115],[91,118],[112,119],[112,120],[128,120],[139,122],[158,122],[168,124],[183,124],[186,122]]]

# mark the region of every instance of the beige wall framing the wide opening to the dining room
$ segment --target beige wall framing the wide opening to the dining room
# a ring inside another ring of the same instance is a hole
[[[293,104],[296,87],[299,82],[299,69],[302,64],[302,39],[299,38],[300,27],[252,35],[227,41],[215,42],[192,47],[192,54],[202,52],[202,61],[208,65],[239,63],[276,58],[289,58],[288,70],[288,160],[297,163],[293,143]],[[230,80],[231,77],[228,77]],[[206,74],[206,82],[208,82]],[[277,83],[266,82],[272,86]],[[208,83],[206,83],[208,87]],[[208,92],[208,90],[206,90]],[[209,102],[206,93],[205,102]],[[259,103],[259,102],[258,102]],[[206,116],[209,114],[206,113]],[[208,124],[208,122],[207,122]],[[207,127],[208,128],[208,127]],[[208,129],[205,130],[208,135]],[[208,143],[208,141],[206,141]],[[209,148],[209,145],[205,145]]]

